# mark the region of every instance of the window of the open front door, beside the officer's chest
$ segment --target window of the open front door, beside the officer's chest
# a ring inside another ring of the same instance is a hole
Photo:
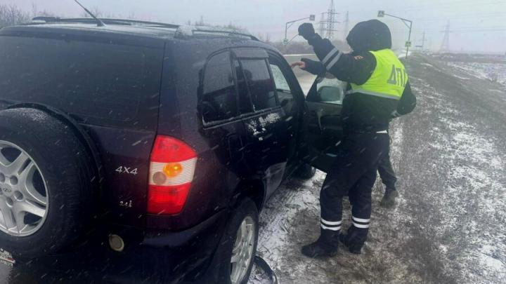
[[[316,95],[308,100],[313,102],[326,102],[328,104],[342,104],[346,83],[328,75],[316,79]]]

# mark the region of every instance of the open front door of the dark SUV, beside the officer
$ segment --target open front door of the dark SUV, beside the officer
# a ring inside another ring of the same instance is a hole
[[[301,159],[318,170],[328,172],[337,157],[343,137],[342,101],[346,83],[330,74],[318,77],[306,97]]]

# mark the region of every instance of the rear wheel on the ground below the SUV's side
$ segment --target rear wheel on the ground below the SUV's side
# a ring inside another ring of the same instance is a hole
[[[249,274],[252,271],[254,256],[257,252],[259,233],[258,214],[257,206],[249,198],[245,198],[240,205],[231,212],[231,219],[226,226],[226,231],[218,250],[221,259],[219,283],[247,284]],[[248,232],[247,234],[242,233],[245,230]],[[246,239],[243,238],[245,236]],[[253,238],[252,241],[247,241],[247,236]],[[242,241],[244,241],[244,243],[242,243]],[[233,273],[237,273],[235,269],[238,269],[239,265],[245,263],[240,261],[233,262],[233,257],[235,258],[234,260],[238,260],[237,257],[240,255],[238,252],[241,251],[241,248],[242,252],[249,252],[249,255],[247,255],[248,259],[244,259],[247,265],[243,271],[238,273],[238,277],[234,278],[235,274],[233,275]]]

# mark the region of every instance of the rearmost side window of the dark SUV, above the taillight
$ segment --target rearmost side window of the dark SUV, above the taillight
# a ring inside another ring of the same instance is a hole
[[[201,110],[207,123],[231,119],[238,114],[231,54],[228,51],[214,55],[207,62],[202,79]]]

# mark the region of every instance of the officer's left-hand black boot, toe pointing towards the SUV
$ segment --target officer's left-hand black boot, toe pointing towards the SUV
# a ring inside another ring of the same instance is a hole
[[[320,238],[314,243],[304,245],[302,254],[306,257],[323,258],[337,255],[339,231],[321,229]]]

